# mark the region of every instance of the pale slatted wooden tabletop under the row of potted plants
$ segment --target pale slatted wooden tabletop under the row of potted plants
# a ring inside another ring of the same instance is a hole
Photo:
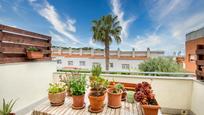
[[[89,101],[88,97],[85,97],[86,107],[81,110],[72,109],[72,98],[67,97],[65,104],[58,107],[50,106],[49,101],[42,103],[36,107],[32,115],[143,115],[141,108],[137,103],[128,103],[122,101],[122,106],[119,109],[112,109],[107,107],[107,96],[105,100],[104,110],[101,113],[90,113],[88,111]]]

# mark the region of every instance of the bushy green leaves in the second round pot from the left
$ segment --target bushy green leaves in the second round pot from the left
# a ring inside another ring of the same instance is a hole
[[[84,95],[86,91],[86,77],[74,78],[70,81],[70,90],[72,95]]]

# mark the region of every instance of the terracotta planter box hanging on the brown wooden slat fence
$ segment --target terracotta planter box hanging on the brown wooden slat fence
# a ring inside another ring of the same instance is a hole
[[[42,59],[43,53],[41,51],[27,51],[28,59]]]

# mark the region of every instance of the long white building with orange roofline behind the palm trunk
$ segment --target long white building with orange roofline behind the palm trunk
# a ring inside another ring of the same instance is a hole
[[[110,51],[110,71],[136,71],[138,65],[150,57],[163,56],[163,51]],[[81,49],[62,49],[53,48],[52,57],[58,62],[58,68],[68,69],[88,69],[93,65],[101,65],[105,70],[105,52],[104,50],[83,50]]]

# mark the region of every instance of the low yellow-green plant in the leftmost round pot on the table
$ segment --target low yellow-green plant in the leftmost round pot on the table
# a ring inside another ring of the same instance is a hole
[[[49,93],[56,94],[66,90],[66,85],[64,83],[50,83],[48,89]]]

